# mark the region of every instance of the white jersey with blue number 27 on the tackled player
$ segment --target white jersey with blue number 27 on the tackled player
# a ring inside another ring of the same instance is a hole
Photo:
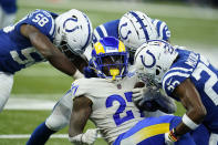
[[[136,81],[137,77],[133,75],[121,81],[80,79],[72,84],[72,97],[85,95],[93,102],[90,120],[108,143],[144,118],[132,101],[132,89]]]

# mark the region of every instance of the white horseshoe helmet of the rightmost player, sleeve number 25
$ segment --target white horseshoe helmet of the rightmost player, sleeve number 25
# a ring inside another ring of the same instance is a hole
[[[178,52],[163,40],[152,40],[137,49],[135,69],[144,82],[160,86],[164,74],[176,60]]]

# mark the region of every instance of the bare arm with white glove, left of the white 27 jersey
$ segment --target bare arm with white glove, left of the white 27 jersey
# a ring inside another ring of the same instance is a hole
[[[85,124],[92,113],[92,101],[85,96],[75,97],[71,113],[69,141],[73,144],[93,144],[97,137],[97,130],[87,130]]]

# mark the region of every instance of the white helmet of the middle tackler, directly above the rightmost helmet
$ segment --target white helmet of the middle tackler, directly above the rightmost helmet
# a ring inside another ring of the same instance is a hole
[[[147,40],[157,39],[157,31],[145,13],[129,11],[120,20],[118,35],[129,51],[135,51]]]

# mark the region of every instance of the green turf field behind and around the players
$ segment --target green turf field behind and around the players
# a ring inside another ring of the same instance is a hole
[[[218,11],[211,9],[194,9],[180,4],[153,4],[129,3],[116,1],[85,1],[63,0],[63,2],[51,2],[52,0],[18,0],[19,10],[17,20],[34,9],[46,9],[56,13],[76,8],[83,10],[93,22],[93,27],[110,20],[120,19],[128,10],[141,10],[149,17],[164,20],[172,31],[172,43],[196,46],[195,49],[215,49],[218,45]],[[53,0],[55,1],[55,0]],[[56,0],[58,1],[58,0]],[[122,6],[122,7],[121,7]],[[110,8],[110,9],[108,9]],[[218,54],[218,53],[217,53]],[[31,94],[51,94],[52,96],[37,97],[39,100],[58,101],[55,94],[63,94],[71,86],[72,77],[60,73],[48,63],[37,64],[30,69],[15,74],[12,97],[35,97]],[[27,94],[29,96],[27,96]],[[54,94],[54,95],[53,95]],[[60,96],[61,97],[61,96]],[[2,134],[30,134],[43,122],[51,111],[9,111],[0,114],[0,135]],[[178,105],[176,115],[181,115],[184,110]],[[91,123],[86,127],[93,127]],[[60,132],[66,134],[68,128]],[[23,139],[1,139],[0,145],[23,145]],[[66,138],[51,138],[48,145],[70,145]],[[96,145],[105,142],[100,139]]]

